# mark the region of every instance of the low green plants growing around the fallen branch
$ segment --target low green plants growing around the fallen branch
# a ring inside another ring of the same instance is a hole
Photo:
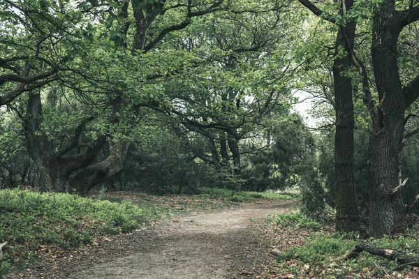
[[[382,239],[369,239],[367,243],[378,248],[398,250],[404,253],[416,256],[419,250],[419,243],[415,234],[405,234],[390,238],[385,236]],[[362,240],[353,234],[340,233],[317,233],[309,236],[302,246],[294,246],[286,253],[277,257],[277,262],[284,265],[284,271],[291,271],[299,275],[300,271],[295,271],[293,266],[286,263],[290,259],[300,259],[304,264],[309,264],[311,269],[328,278],[341,278],[342,274],[366,273],[368,277],[383,277],[385,274],[391,274],[397,269],[398,264],[384,257],[377,257],[368,252],[361,252],[360,256],[346,260],[346,262],[331,262],[352,250],[357,243]],[[379,269],[377,267],[379,266]]]

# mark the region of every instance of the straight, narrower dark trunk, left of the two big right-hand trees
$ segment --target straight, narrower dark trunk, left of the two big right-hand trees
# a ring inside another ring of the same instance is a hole
[[[353,0],[346,1],[346,10],[353,6]],[[351,44],[355,40],[355,22],[346,25],[346,35]],[[336,49],[344,49],[345,38],[339,31]],[[336,229],[340,232],[353,232],[359,229],[358,206],[356,202],[353,176],[353,88],[352,79],[343,75],[351,68],[352,61],[347,54],[337,56],[333,62],[333,81],[335,89],[336,133],[335,133],[335,183],[336,183]]]

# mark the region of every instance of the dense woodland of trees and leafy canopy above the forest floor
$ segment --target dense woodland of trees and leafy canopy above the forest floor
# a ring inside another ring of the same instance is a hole
[[[374,237],[417,217],[418,1],[0,7],[1,188],[297,188]]]

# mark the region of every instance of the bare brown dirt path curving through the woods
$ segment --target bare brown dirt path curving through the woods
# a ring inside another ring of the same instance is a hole
[[[28,278],[248,278],[251,264],[268,250],[255,220],[290,205],[253,204],[165,220],[57,259],[49,271]]]

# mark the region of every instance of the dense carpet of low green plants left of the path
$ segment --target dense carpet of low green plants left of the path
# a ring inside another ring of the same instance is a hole
[[[127,201],[27,190],[1,190],[0,214],[0,240],[9,243],[1,269],[7,262],[32,259],[40,246],[68,249],[89,243],[94,236],[131,232],[160,217],[159,212]]]

